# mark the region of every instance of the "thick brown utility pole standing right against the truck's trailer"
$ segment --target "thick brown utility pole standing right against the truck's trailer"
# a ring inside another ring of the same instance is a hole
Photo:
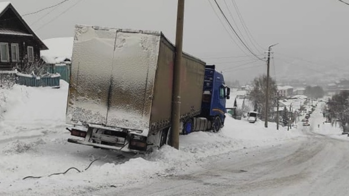
[[[177,25],[175,38],[175,59],[172,86],[172,113],[171,113],[171,146],[179,148],[180,129],[180,104],[181,104],[181,66],[182,66],[182,46],[183,46],[183,24],[184,24],[184,0],[178,0],[177,5]]]

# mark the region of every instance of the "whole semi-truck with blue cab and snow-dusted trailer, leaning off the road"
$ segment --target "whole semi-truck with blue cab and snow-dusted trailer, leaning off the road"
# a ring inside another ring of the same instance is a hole
[[[160,31],[76,25],[68,142],[124,152],[168,143],[174,55]],[[230,94],[222,73],[187,53],[181,63],[181,134],[218,132]]]

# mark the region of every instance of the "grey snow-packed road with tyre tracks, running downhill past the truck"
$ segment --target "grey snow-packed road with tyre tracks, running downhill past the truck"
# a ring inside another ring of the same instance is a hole
[[[318,111],[311,121],[303,128],[304,136],[283,144],[212,156],[200,170],[96,195],[347,196],[348,139],[322,124]],[[323,126],[323,132],[327,127],[332,133],[317,134]]]

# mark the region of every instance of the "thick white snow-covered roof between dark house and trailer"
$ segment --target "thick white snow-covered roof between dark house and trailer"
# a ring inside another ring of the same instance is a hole
[[[71,59],[73,53],[73,37],[51,38],[43,41],[48,46],[48,50],[41,51],[42,56],[51,58]]]

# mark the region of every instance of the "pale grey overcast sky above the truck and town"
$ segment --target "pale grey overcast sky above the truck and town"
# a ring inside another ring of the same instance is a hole
[[[60,1],[11,2],[24,15]],[[248,37],[233,0],[217,1],[255,54],[262,53],[264,57],[269,45],[279,43],[273,47],[271,76],[283,78],[314,72],[326,75],[327,70],[338,67],[338,72],[349,73],[348,5],[338,0],[235,0],[247,31],[252,34]],[[231,35],[227,33],[224,27],[228,25],[223,20],[222,25],[209,2],[222,19],[214,0],[186,0],[183,49],[208,64],[215,63],[229,80],[246,82],[265,73],[266,63],[252,62],[254,57],[240,49],[243,46],[231,30],[228,29]],[[161,30],[174,43],[176,6],[177,0],[68,0],[24,19],[42,39],[73,36],[75,24],[87,24]],[[246,55],[249,57],[241,57]]]

